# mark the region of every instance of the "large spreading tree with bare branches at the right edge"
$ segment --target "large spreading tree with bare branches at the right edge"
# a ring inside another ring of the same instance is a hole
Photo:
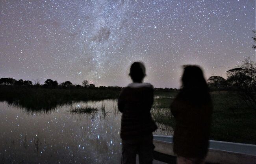
[[[256,110],[256,63],[247,57],[240,66],[227,72],[227,82],[243,101]]]

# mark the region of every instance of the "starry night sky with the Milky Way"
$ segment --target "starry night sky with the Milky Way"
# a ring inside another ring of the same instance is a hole
[[[0,77],[124,87],[143,61],[145,82],[179,88],[184,64],[255,60],[255,20],[255,0],[2,0]]]

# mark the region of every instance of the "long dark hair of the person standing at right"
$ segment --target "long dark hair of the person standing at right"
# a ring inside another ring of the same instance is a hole
[[[184,66],[180,96],[196,105],[210,103],[209,88],[202,69],[197,65]]]

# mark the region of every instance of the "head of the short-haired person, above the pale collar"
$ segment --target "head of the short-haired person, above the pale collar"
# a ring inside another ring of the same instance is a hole
[[[142,83],[146,76],[146,68],[142,62],[134,62],[130,67],[129,76],[134,83]]]

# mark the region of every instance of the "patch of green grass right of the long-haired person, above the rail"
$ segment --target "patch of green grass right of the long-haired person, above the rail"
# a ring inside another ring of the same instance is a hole
[[[256,111],[249,109],[234,93],[212,94],[211,138],[256,144]]]

